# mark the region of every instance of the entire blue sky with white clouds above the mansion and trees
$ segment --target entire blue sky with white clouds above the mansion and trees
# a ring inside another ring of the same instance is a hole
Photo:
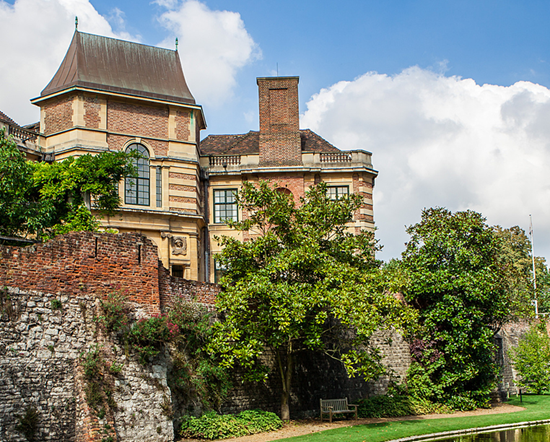
[[[550,258],[550,2],[0,0],[0,110],[29,100],[79,30],[174,48],[203,137],[258,129],[256,77],[299,76],[300,125],[372,152],[381,259],[429,207],[534,228]]]

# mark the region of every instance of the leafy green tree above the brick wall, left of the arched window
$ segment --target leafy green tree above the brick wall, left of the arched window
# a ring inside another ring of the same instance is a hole
[[[89,209],[112,214],[120,204],[118,182],[132,176],[136,154],[102,152],[55,163],[27,161],[0,132],[0,235],[40,238],[97,230]]]

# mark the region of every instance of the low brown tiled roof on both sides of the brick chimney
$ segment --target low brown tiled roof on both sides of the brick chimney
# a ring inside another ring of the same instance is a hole
[[[340,152],[324,138],[309,129],[300,130],[302,152]],[[260,152],[260,133],[208,135],[201,141],[202,155],[247,155]]]

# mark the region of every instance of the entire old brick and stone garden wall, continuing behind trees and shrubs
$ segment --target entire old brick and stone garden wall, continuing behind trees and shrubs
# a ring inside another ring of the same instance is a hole
[[[173,440],[172,417],[192,407],[169,388],[168,353],[154,364],[140,365],[94,321],[101,314],[99,300],[122,293],[137,319],[163,312],[178,299],[213,308],[219,286],[171,277],[155,245],[144,236],[81,232],[29,247],[0,246],[1,287],[0,440],[24,440],[15,427],[29,407],[38,412],[37,440],[95,441],[111,433],[118,441]],[[517,325],[500,333],[501,390],[515,379],[507,350],[525,330],[525,325]],[[404,379],[410,363],[407,343],[398,335],[382,333],[375,341],[384,363],[397,379]],[[117,406],[107,407],[101,419],[87,405],[79,357],[94,348],[100,348],[109,364],[123,367],[105,381],[112,386]],[[234,377],[235,387],[222,411],[279,412],[276,375],[265,384],[242,382],[239,373]],[[349,379],[339,362],[304,353],[295,368],[291,414],[316,415],[319,398],[355,401],[383,394],[388,381]],[[176,404],[178,410],[173,410]]]

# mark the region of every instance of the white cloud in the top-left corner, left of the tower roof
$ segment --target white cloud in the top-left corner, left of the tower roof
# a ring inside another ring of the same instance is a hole
[[[19,124],[38,121],[38,108],[29,100],[42,89],[59,67],[74,32],[128,38],[115,34],[109,22],[88,0],[0,0],[0,109]]]

